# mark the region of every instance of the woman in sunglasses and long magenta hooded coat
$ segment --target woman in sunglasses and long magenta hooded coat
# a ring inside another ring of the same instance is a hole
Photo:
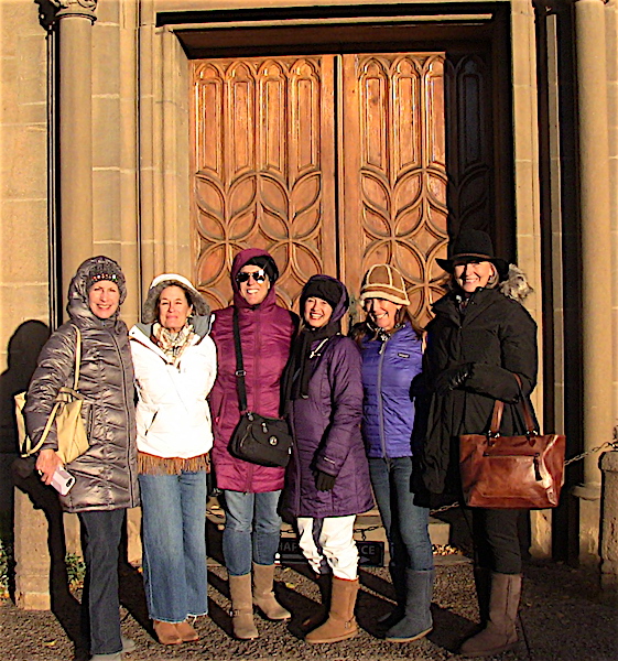
[[[296,315],[275,303],[279,270],[264,250],[249,248],[234,259],[234,303],[215,313],[210,337],[217,347],[217,380],[210,392],[215,443],[213,463],[225,496],[224,557],[229,576],[234,633],[258,637],[253,605],[269,619],[290,618],[274,598],[274,555],[279,549],[279,498],[284,468],[268,468],[231,456],[229,440],[240,420],[234,313],[238,313],[249,411],[277,418],[281,375],[296,329]],[[252,561],[252,566],[251,566]],[[251,570],[253,583],[251,585]]]

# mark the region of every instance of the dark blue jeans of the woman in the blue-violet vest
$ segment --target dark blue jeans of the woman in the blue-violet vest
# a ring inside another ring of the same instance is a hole
[[[369,474],[387,531],[391,567],[415,572],[432,570],[430,510],[414,505],[412,457],[369,459]]]

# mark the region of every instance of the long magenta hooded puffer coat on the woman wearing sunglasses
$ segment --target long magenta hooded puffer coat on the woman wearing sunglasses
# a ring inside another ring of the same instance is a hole
[[[236,275],[252,258],[269,256],[249,248],[239,252],[231,266],[234,305],[215,312],[210,337],[217,346],[217,380],[210,391],[210,411],[215,443],[217,486],[220,489],[261,494],[283,488],[284,468],[268,468],[232,457],[228,452],[231,434],[240,420],[236,390],[236,351],[234,348],[234,307],[238,310],[242,361],[247,376],[247,405],[250,411],[279,416],[281,373],[290,355],[295,332],[295,315],[275,304],[274,285],[260,305],[252,307],[240,295]]]

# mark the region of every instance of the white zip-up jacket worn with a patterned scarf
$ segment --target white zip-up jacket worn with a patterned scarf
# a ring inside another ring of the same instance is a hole
[[[197,337],[174,367],[150,339],[151,326],[129,332],[135,384],[138,449],[158,457],[188,459],[213,447],[206,398],[217,376],[217,350],[207,335],[209,319],[195,317]]]

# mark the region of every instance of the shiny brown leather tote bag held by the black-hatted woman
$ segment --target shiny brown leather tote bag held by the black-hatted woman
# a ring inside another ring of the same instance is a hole
[[[487,434],[459,436],[459,472],[469,507],[546,509],[559,503],[566,438],[540,435],[523,393],[520,401],[528,430],[523,436],[500,435],[505,403],[499,400]]]

